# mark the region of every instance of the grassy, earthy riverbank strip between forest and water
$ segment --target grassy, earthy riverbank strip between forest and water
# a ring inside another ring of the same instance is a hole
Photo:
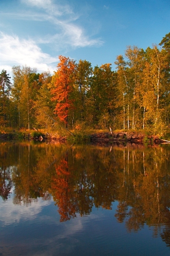
[[[145,132],[137,131],[115,131],[115,132],[100,132],[91,131],[87,134],[73,132],[72,135],[59,135],[59,133],[48,133],[44,130],[38,131],[15,131],[9,133],[0,133],[0,140],[36,140],[36,141],[89,141],[92,143],[134,143],[134,144],[160,144],[170,143],[169,140],[160,138],[158,135],[147,135]]]

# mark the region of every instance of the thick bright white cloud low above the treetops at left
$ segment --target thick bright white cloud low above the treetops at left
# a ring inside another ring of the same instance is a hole
[[[53,58],[43,53],[40,47],[32,39],[19,39],[18,36],[9,36],[1,33],[1,61],[0,68],[5,69],[11,66],[27,65],[37,68],[38,71],[53,72],[58,58]],[[8,71],[9,72],[9,71]]]

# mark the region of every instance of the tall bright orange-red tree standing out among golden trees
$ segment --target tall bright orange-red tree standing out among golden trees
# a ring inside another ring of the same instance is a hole
[[[73,73],[75,69],[75,61],[70,60],[62,55],[59,56],[59,64],[57,65],[57,71],[54,74],[53,82],[54,88],[51,89],[53,94],[52,100],[56,101],[55,114],[58,115],[60,121],[66,124],[68,128],[68,115],[69,110],[73,109]]]

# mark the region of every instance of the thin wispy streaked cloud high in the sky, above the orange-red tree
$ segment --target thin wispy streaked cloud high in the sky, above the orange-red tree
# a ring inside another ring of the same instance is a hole
[[[26,3],[29,6],[36,6],[45,11],[45,13],[39,13],[37,15],[31,14],[29,17],[36,20],[48,20],[48,22],[54,25],[55,30],[58,31],[54,35],[48,35],[48,40],[42,40],[41,42],[54,43],[54,40],[56,41],[57,38],[57,49],[65,46],[77,48],[103,44],[103,41],[99,38],[90,39],[89,36],[85,35],[85,29],[75,24],[80,17],[73,12],[69,5],[59,5],[51,0],[22,0],[22,3]]]

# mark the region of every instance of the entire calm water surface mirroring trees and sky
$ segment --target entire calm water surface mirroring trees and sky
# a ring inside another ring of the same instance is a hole
[[[0,255],[170,255],[170,145],[0,143]]]

